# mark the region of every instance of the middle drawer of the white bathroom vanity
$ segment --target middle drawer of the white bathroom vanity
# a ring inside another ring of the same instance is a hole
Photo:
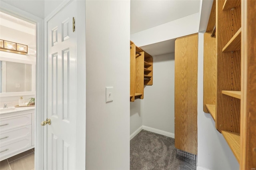
[[[31,125],[6,130],[0,133],[0,146],[6,143],[13,142],[14,140],[19,140],[20,138],[31,136],[31,134]]]

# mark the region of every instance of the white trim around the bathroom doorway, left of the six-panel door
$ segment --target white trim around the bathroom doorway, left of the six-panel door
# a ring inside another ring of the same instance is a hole
[[[36,109],[35,109],[35,169],[42,169],[44,155],[44,19],[1,2],[0,10],[6,14],[36,24]]]

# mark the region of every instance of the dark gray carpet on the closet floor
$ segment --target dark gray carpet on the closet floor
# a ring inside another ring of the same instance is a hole
[[[130,140],[130,170],[196,170],[196,160],[178,155],[174,138],[142,130]]]

